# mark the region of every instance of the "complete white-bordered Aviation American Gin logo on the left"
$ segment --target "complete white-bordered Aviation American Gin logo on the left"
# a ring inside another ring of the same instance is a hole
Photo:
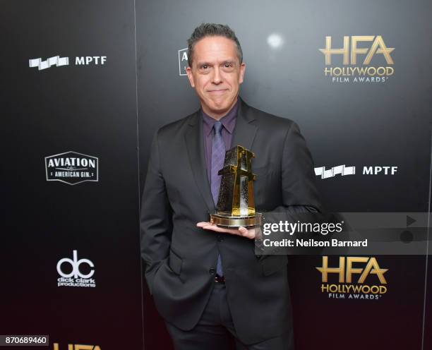
[[[85,181],[99,181],[97,157],[78,152],[64,152],[45,157],[47,181],[76,185]]]

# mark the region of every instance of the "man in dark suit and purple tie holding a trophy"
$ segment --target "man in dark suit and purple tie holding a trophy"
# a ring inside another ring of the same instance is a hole
[[[246,65],[229,27],[200,25],[188,44],[201,109],[152,141],[141,215],[150,293],[178,350],[228,349],[231,336],[236,349],[294,349],[287,256],[257,255],[259,229],[221,229],[208,218],[234,145],[256,154],[255,203],[266,221],[319,211],[310,152],[296,123],[239,99]]]

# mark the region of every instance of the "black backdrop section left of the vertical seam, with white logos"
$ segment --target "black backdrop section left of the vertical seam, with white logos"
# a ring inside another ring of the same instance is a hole
[[[0,333],[142,349],[133,1],[0,13]]]

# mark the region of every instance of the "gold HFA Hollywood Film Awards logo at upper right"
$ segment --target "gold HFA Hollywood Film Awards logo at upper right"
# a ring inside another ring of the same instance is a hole
[[[362,47],[365,42],[371,43],[369,47]],[[319,50],[325,56],[324,75],[332,77],[333,83],[383,83],[395,73],[391,56],[394,49],[386,46],[381,35],[352,35],[344,36],[342,48],[333,47],[332,37],[325,37],[325,48]],[[328,67],[335,55],[342,56],[342,67]],[[377,55],[382,55],[388,66],[370,66]]]

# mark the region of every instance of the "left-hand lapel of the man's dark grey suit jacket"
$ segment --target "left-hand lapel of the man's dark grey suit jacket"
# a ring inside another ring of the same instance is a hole
[[[188,130],[184,135],[188,150],[189,162],[193,172],[196,186],[203,196],[203,200],[209,212],[215,211],[210,184],[208,183],[207,167],[204,155],[203,119],[200,111],[193,114],[188,121]]]

